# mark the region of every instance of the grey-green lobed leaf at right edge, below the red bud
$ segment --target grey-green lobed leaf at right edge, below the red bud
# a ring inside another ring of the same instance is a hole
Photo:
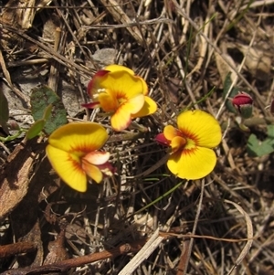
[[[255,134],[248,138],[248,154],[250,156],[262,156],[274,152],[274,125],[268,126],[268,137],[259,141]]]

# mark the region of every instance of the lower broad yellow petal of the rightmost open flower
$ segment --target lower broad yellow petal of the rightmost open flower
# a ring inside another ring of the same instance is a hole
[[[195,147],[171,154],[168,169],[176,176],[195,180],[209,175],[216,165],[216,153],[212,149]]]

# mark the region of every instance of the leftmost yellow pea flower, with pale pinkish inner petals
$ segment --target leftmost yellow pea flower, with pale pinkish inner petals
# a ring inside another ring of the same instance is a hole
[[[109,152],[100,148],[108,139],[106,130],[98,123],[69,123],[61,126],[48,138],[47,158],[71,188],[85,192],[88,177],[100,183],[105,175],[112,175],[113,167],[108,162]]]

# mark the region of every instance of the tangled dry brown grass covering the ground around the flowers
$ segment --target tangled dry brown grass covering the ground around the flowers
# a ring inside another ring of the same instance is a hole
[[[100,113],[86,113],[79,105],[89,100],[88,79],[108,62],[120,62],[146,79],[159,110],[139,121],[150,131],[136,139],[124,141],[111,132],[108,147],[118,173],[102,185],[90,185],[83,195],[62,183],[58,187],[44,153],[36,154],[28,177],[44,188],[29,186],[27,196],[33,202],[17,206],[5,218],[0,244],[33,241],[38,253],[17,261],[0,259],[2,271],[108,251],[151,238],[160,229],[163,239],[132,274],[273,274],[273,153],[248,156],[250,133],[237,128],[236,115],[227,111],[222,93],[231,72],[234,85],[251,92],[254,117],[271,117],[266,106],[274,86],[274,1],[52,1],[33,11],[32,26],[24,31],[19,21],[9,25],[9,14],[2,16],[0,26],[11,78],[4,65],[2,77],[25,111],[29,90],[20,90],[20,84],[36,76],[68,101],[69,120],[92,120],[110,129]],[[94,57],[102,48],[115,53]],[[194,108],[212,113],[223,127],[215,172],[201,181],[182,182],[164,165],[155,165],[165,153],[153,137],[214,87]],[[250,131],[264,137],[266,124],[254,122]],[[3,144],[2,167],[5,151],[12,152],[19,142]],[[19,227],[28,227],[23,236]],[[52,249],[52,243],[47,247],[54,236],[62,240],[58,249]],[[118,274],[134,254],[101,256],[73,274]]]

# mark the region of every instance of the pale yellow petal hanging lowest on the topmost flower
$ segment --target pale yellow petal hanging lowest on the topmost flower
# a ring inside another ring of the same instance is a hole
[[[132,113],[142,108],[144,96],[142,94],[121,104],[119,109],[111,116],[111,126],[115,131],[126,129],[132,122]]]

